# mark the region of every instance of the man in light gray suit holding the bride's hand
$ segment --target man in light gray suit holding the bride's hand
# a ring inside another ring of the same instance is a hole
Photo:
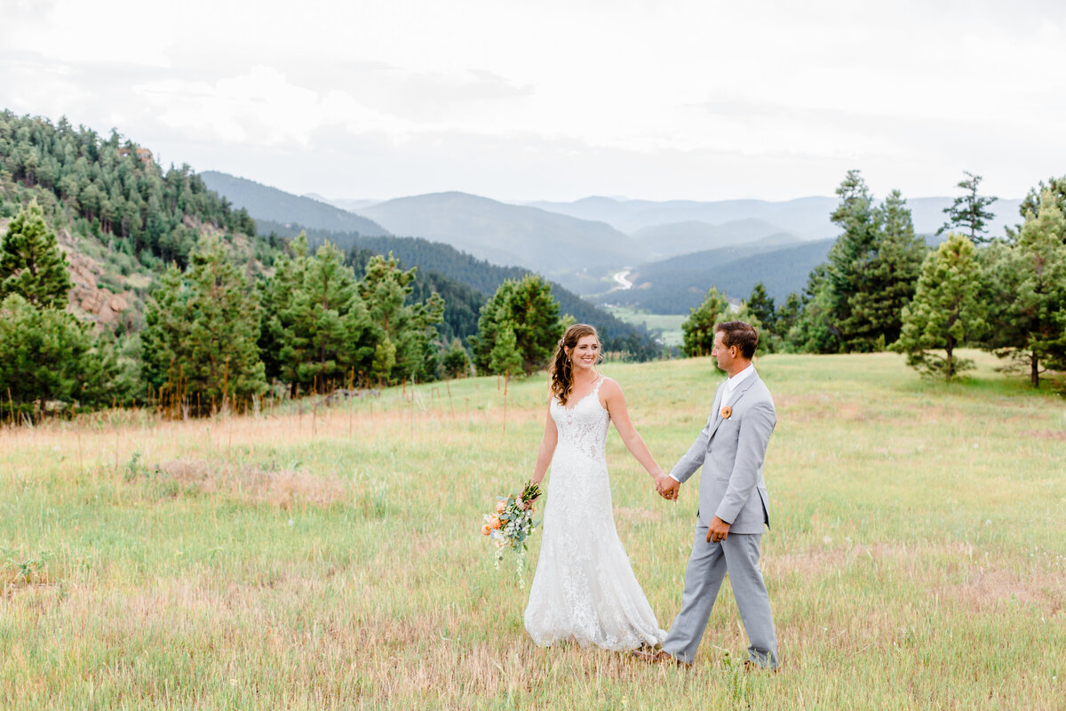
[[[646,656],[647,661],[673,658],[692,664],[722,579],[728,572],[750,641],[745,666],[776,669],[779,664],[770,598],[759,569],[762,527],[770,526],[762,459],[777,415],[770,391],[752,365],[758,343],[759,334],[742,321],[714,327],[711,355],[729,379],[714,394],[707,426],[669,478],[662,480],[660,494],[676,499],[681,484],[700,466],[704,468],[696,540],[684,576],[681,612],[662,650]]]

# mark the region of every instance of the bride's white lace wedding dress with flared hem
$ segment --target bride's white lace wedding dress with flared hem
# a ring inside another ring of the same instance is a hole
[[[599,402],[603,379],[572,408],[558,400],[550,406],[559,441],[526,608],[526,629],[540,646],[571,640],[625,650],[666,637],[614,527],[603,452],[611,416]]]

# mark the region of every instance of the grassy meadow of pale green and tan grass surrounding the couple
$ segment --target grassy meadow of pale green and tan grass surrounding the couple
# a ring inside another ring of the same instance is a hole
[[[512,383],[505,427],[498,381],[477,378],[2,429],[0,708],[1064,709],[1066,406],[969,355],[958,385],[892,354],[757,363],[778,410],[776,675],[738,666],[728,585],[691,669],[532,644],[527,592],[480,527],[532,470],[542,377]],[[712,361],[602,370],[668,469],[707,417]],[[695,484],[661,500],[613,430],[608,458],[668,628]]]

